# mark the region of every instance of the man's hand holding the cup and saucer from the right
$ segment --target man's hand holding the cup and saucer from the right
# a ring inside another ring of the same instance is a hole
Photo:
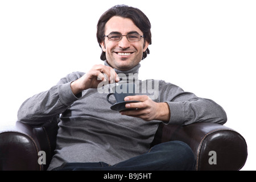
[[[148,96],[128,96],[125,101],[141,101],[126,104],[127,110],[121,111],[122,115],[142,118],[144,121],[160,120],[168,122],[170,120],[170,109],[166,102],[154,102]]]

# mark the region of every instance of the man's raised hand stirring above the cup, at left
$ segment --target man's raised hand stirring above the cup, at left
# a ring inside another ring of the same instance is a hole
[[[119,77],[111,67],[102,64],[94,65],[84,76],[71,83],[71,90],[76,95],[82,90],[97,88],[101,81],[118,82]]]

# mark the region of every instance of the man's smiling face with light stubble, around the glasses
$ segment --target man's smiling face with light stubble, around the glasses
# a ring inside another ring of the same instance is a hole
[[[105,26],[105,35],[112,32],[119,32],[127,35],[130,32],[138,32],[143,35],[133,21],[129,18],[113,16]],[[143,52],[146,51],[148,43],[144,43],[144,38],[138,42],[129,42],[126,36],[118,42],[110,41],[107,37],[105,43],[101,43],[102,51],[106,52],[106,59],[110,66],[121,71],[129,70],[142,60]]]

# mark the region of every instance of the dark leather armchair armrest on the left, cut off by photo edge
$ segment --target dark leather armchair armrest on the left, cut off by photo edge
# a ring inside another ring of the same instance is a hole
[[[34,128],[19,121],[1,128],[0,170],[46,170],[56,146],[56,132],[57,125]],[[46,152],[46,164],[38,163],[39,151]]]

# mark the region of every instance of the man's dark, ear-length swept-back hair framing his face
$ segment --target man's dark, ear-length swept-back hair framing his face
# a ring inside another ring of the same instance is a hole
[[[98,44],[101,47],[101,42],[105,40],[105,25],[110,18],[113,16],[121,16],[123,18],[129,18],[133,20],[133,23],[143,32],[144,41],[147,41],[151,44],[151,24],[148,20],[147,16],[139,9],[135,7],[130,7],[126,5],[116,5],[106,11],[101,15],[97,24],[97,40]],[[147,54],[150,53],[150,50],[147,48],[145,52],[143,52],[142,59],[147,57]],[[106,53],[102,51],[101,60],[106,60]]]

